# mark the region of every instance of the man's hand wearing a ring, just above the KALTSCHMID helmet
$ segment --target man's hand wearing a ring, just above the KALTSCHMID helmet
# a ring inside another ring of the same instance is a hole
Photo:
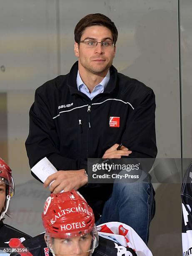
[[[52,182],[54,181],[54,182]],[[80,169],[77,171],[58,171],[50,175],[44,182],[44,187],[49,186],[49,190],[52,193],[59,193],[63,189],[65,192],[71,189],[79,189],[88,182],[88,177],[85,174],[85,169]]]

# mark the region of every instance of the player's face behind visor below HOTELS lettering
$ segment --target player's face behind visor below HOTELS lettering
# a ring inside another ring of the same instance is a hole
[[[67,239],[54,238],[52,246],[56,256],[89,256],[91,241],[90,234]]]

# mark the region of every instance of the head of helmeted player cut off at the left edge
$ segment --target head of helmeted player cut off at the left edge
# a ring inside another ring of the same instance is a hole
[[[7,212],[10,198],[14,195],[14,182],[10,167],[0,158],[0,220]]]

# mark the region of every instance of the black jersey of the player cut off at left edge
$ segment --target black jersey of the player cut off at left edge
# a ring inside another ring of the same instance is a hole
[[[31,238],[31,236],[10,225],[4,224],[2,220],[0,220],[0,248],[9,248],[9,243],[7,242],[9,242],[11,238],[22,238],[21,241],[25,241]]]

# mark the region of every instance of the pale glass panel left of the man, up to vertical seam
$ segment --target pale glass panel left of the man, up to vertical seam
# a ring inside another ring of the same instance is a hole
[[[5,221],[34,236],[44,230],[41,212],[49,192],[30,174],[25,140],[35,89],[58,73],[56,0],[0,5],[0,156],[15,180],[11,218]]]

